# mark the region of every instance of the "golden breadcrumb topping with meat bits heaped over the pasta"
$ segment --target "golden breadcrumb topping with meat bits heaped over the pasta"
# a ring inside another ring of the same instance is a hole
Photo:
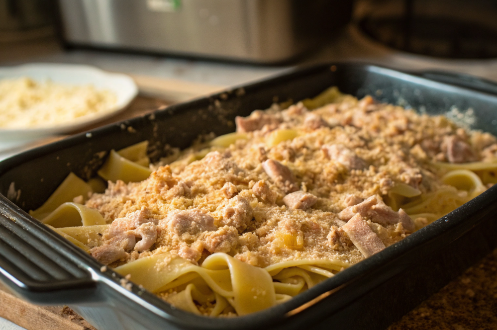
[[[214,252],[260,267],[293,259],[356,263],[364,255],[347,235],[354,228],[342,229],[348,210],[369,205],[354,214],[371,232],[358,226],[388,247],[414,228],[384,203],[390,189],[403,183],[434,191],[443,185],[434,162],[491,161],[497,153],[490,134],[370,96],[345,95],[313,111],[274,106],[236,123],[243,138],[229,147],[193,148],[142,182],[109,182],[86,202],[107,223],[141,211],[157,225],[149,249],[117,263],[164,251],[196,264]]]

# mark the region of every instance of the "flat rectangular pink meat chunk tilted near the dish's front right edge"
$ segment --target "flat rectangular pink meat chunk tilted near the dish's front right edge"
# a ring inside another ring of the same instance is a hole
[[[385,248],[385,244],[360,214],[353,216],[341,228],[366,258]]]

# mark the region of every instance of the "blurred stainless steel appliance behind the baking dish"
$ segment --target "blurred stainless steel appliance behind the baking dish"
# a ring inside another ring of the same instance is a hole
[[[319,45],[352,0],[59,0],[68,45],[259,63]]]

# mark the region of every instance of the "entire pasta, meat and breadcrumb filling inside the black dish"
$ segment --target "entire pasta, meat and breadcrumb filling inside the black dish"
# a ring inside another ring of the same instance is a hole
[[[497,182],[492,135],[336,87],[236,124],[155,165],[147,142],[112,150],[99,177],[70,173],[30,214],[177,308],[235,316],[291,299]]]

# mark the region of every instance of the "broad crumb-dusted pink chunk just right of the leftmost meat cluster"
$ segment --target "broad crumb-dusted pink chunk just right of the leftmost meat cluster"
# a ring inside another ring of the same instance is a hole
[[[167,215],[164,223],[170,232],[178,236],[187,233],[194,236],[217,229],[214,226],[214,218],[199,209],[171,212]]]

